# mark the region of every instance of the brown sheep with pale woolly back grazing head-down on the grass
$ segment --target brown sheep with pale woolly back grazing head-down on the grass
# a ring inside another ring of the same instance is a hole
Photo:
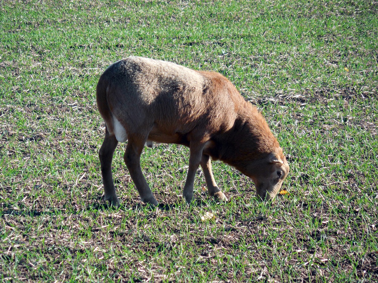
[[[260,112],[218,73],[129,57],[110,65],[101,75],[97,104],[106,125],[99,152],[105,199],[113,205],[118,206],[119,200],[111,172],[112,156],[117,138],[125,140],[122,137],[126,133],[125,163],[142,201],[152,205],[157,205],[157,201],[139,162],[146,142],[189,146],[189,169],[183,191],[188,202],[192,200],[199,165],[209,195],[226,200],[214,181],[209,157],[251,177],[257,195],[266,199],[277,194],[289,171],[282,149]]]

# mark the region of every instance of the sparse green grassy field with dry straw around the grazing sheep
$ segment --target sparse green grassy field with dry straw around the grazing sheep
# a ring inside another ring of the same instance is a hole
[[[0,0],[2,282],[376,282],[378,2]],[[95,87],[130,55],[217,71],[266,117],[289,194],[213,163],[229,198],[181,198],[188,149],[146,148],[159,208],[113,159]],[[214,219],[201,221],[212,212]]]

